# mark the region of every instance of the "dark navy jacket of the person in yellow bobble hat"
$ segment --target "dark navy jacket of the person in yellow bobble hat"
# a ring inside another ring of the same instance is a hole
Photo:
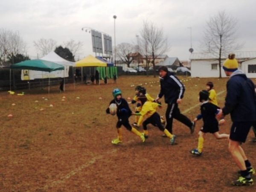
[[[233,122],[256,120],[256,94],[253,82],[241,70],[236,70],[227,81],[227,96],[222,109],[230,113]]]

